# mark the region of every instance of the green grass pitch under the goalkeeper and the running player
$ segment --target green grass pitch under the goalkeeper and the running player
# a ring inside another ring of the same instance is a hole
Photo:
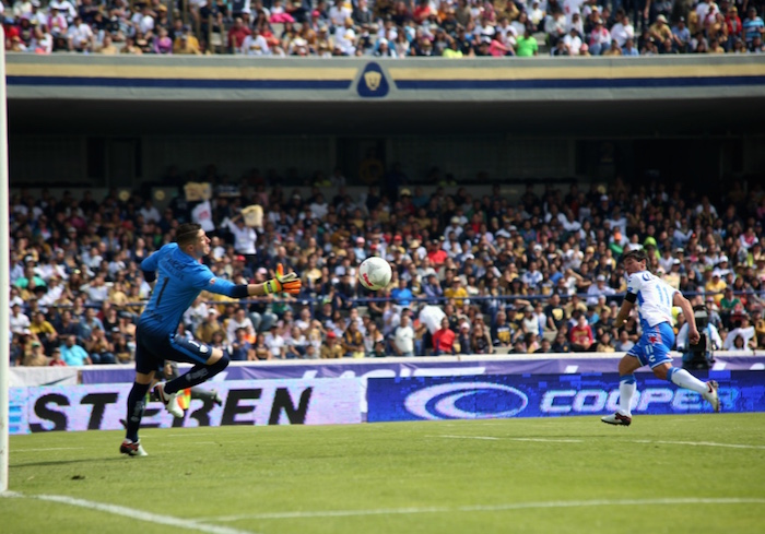
[[[765,414],[12,436],[0,532],[765,532]]]

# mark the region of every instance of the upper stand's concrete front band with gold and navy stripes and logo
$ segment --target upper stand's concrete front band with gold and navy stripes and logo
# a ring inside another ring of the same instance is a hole
[[[448,61],[9,55],[9,98],[600,100],[762,96],[765,58]],[[681,90],[681,91],[679,91]]]

